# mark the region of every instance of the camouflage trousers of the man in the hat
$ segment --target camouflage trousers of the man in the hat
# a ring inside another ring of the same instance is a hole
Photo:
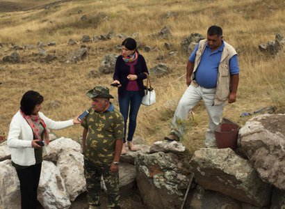
[[[84,157],[84,174],[90,206],[101,204],[101,176],[103,176],[108,194],[107,208],[120,207],[119,172],[111,173],[110,166],[111,164],[94,164]]]

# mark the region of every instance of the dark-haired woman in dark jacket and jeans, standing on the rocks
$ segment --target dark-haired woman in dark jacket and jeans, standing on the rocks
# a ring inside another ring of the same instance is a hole
[[[129,129],[127,134],[127,142],[129,150],[138,150],[133,146],[133,134],[136,130],[136,118],[138,110],[142,102],[142,97],[145,95],[143,79],[149,74],[147,64],[141,54],[136,49],[136,40],[126,38],[122,42],[122,55],[117,57],[115,72],[113,75],[113,84],[117,86],[119,95],[120,112],[124,117],[124,136],[127,133],[127,120],[129,116]],[[126,139],[124,138],[126,145]],[[122,154],[126,153],[123,146]]]

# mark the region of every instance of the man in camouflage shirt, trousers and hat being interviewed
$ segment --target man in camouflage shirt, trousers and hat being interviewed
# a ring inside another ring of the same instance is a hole
[[[86,93],[92,99],[90,113],[81,125],[89,208],[100,208],[101,176],[108,192],[107,208],[119,206],[119,164],[124,119],[114,109],[109,89],[95,86]]]

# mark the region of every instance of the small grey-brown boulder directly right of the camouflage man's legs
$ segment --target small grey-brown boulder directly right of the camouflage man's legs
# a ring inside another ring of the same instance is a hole
[[[134,192],[136,183],[136,167],[133,164],[122,162],[119,170],[120,194],[129,196]]]

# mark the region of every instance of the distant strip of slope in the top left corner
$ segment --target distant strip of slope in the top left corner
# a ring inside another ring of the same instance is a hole
[[[14,0],[14,1],[3,1],[0,0],[0,13],[8,13],[8,12],[15,12],[15,11],[25,11],[25,10],[34,10],[34,9],[43,9],[47,6],[54,6],[58,3],[63,3],[66,1],[72,0]]]

